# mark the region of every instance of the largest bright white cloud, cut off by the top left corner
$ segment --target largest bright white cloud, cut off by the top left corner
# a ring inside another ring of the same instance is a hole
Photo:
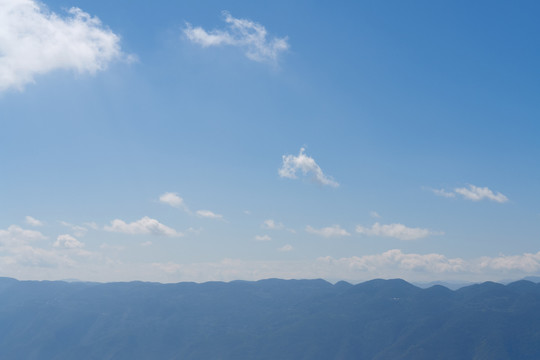
[[[58,69],[94,74],[129,59],[118,35],[78,8],[60,16],[34,0],[2,0],[0,34],[0,91]]]

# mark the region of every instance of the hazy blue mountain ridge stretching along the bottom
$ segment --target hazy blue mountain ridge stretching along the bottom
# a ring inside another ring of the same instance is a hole
[[[540,359],[540,285],[0,278],[0,359]]]

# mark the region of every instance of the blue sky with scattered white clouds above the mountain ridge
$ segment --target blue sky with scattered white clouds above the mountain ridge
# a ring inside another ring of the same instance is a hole
[[[0,0],[0,276],[540,275],[539,15]]]

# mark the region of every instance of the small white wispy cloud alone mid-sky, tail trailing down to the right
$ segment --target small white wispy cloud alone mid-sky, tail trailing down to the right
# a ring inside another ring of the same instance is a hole
[[[304,176],[312,174],[314,181],[321,185],[338,187],[339,184],[331,177],[325,175],[312,157],[307,156],[305,149],[301,148],[298,156],[283,155],[283,165],[278,170],[282,178],[296,179],[296,173],[301,171]]]

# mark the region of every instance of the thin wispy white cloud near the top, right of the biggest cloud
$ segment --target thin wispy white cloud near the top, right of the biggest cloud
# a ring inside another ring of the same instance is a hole
[[[226,30],[206,31],[186,23],[186,37],[202,47],[230,45],[245,51],[254,61],[275,63],[278,56],[289,48],[287,38],[269,37],[264,26],[247,19],[237,19],[227,11],[223,12]]]

